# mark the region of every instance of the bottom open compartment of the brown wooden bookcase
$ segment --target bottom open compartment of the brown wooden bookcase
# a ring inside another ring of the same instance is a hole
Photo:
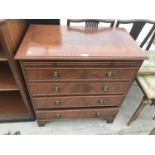
[[[20,120],[29,117],[19,91],[0,92],[0,121]]]

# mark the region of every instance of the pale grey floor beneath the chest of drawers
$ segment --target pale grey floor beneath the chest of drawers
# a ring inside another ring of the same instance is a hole
[[[130,126],[126,123],[140,104],[142,92],[134,83],[112,124],[100,119],[63,120],[38,127],[36,122],[1,123],[0,134],[20,131],[22,135],[147,135],[155,127],[155,107],[146,106]]]

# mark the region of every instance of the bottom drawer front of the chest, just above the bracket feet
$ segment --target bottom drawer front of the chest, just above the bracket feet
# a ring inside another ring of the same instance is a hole
[[[37,111],[38,120],[74,119],[74,118],[114,118],[118,108],[73,109]]]

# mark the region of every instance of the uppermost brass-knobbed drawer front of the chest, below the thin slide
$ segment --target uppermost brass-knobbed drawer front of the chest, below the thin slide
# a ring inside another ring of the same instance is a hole
[[[131,81],[136,68],[26,68],[29,81],[117,80]]]

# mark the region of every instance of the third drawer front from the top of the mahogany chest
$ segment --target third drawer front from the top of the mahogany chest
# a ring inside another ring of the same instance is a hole
[[[36,109],[119,106],[123,95],[33,98]]]

